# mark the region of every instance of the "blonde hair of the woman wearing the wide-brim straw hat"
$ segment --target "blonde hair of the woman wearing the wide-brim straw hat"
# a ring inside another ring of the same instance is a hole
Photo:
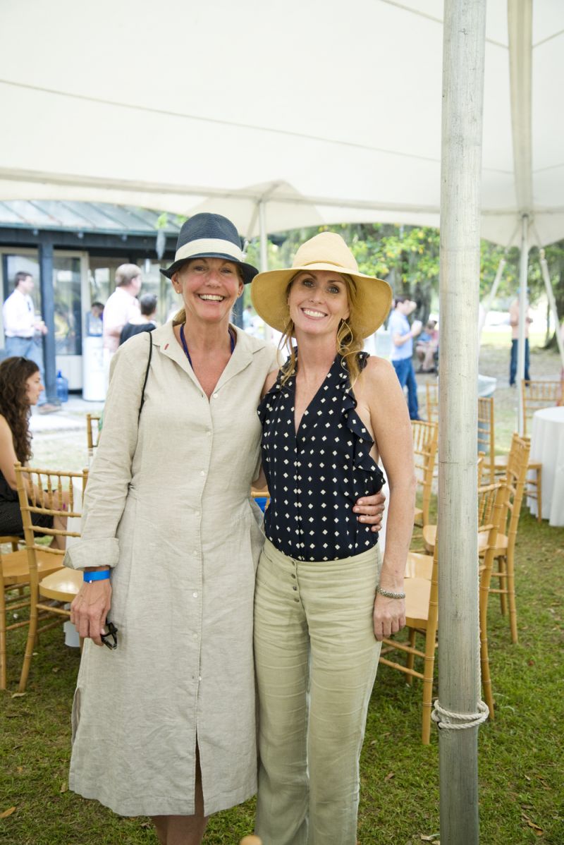
[[[290,295],[290,287],[293,285],[296,276],[300,275],[303,270],[293,275],[286,288],[286,297]],[[350,386],[354,387],[356,381],[361,375],[361,368],[358,362],[358,353],[361,352],[364,346],[364,338],[361,337],[357,329],[358,314],[358,296],[356,293],[355,280],[346,273],[339,273],[340,278],[344,281],[347,292],[347,300],[349,305],[349,316],[347,319],[342,319],[337,330],[335,352],[344,358],[344,363],[349,370]],[[284,334],[280,338],[279,349],[284,346],[290,354],[290,360],[284,365],[284,375],[282,376],[282,384],[285,384],[290,379],[297,369],[297,358],[295,346],[292,343],[292,335],[294,334],[294,321],[290,318],[288,313],[288,322],[286,323]]]

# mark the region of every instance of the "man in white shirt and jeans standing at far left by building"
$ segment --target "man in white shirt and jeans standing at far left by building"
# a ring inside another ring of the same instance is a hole
[[[39,367],[41,382],[45,384],[43,373],[43,348],[41,338],[35,341],[35,335],[46,335],[47,327],[41,317],[35,317],[35,308],[31,292],[35,287],[33,276],[19,271],[14,276],[14,292],[3,304],[3,324],[6,357],[24,357],[35,361]],[[46,395],[41,391],[37,403],[41,412],[58,411],[57,405],[46,402]]]

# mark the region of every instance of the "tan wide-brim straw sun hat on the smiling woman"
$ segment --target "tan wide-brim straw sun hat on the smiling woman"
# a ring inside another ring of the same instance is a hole
[[[288,285],[301,270],[333,270],[350,275],[356,282],[357,306],[355,331],[361,337],[373,335],[390,313],[392,288],[376,276],[359,273],[355,256],[334,232],[321,232],[296,252],[294,262],[285,270],[267,270],[252,280],[251,299],[255,311],[265,323],[280,332],[288,325]]]

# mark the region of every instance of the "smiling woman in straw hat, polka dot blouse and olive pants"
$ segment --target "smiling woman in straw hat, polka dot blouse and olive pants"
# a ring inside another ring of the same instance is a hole
[[[387,361],[361,352],[392,296],[330,232],[251,292],[290,341],[259,407],[271,501],[255,591],[256,832],[268,845],[355,845],[366,711],[380,641],[405,624],[415,504],[403,392]],[[382,486],[378,458],[390,486],[383,560],[350,519],[350,502]]]

